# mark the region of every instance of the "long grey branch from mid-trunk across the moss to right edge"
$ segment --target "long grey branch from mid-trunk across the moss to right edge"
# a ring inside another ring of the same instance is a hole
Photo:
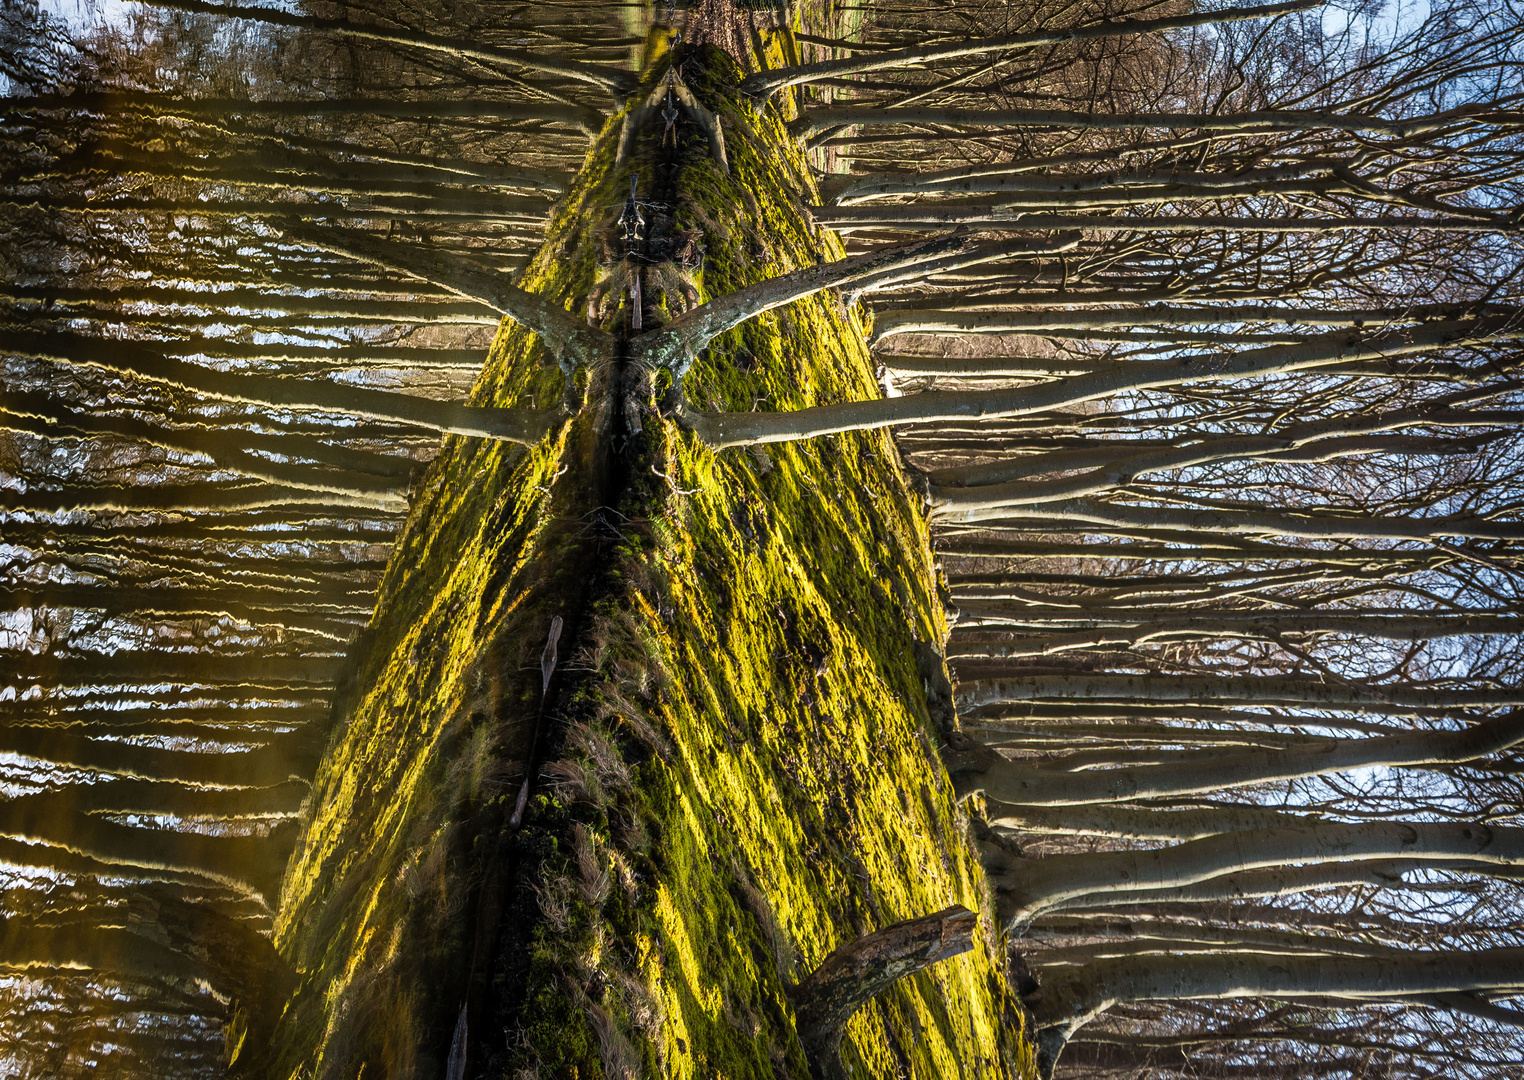
[[[1224,312],[1218,311],[1205,317],[1222,320]],[[1253,315],[1244,317],[1250,318]],[[1318,315],[1305,317],[1317,318]],[[1106,318],[1135,323],[1145,318],[1145,315],[1141,312],[1126,312],[1108,314]],[[1516,340],[1521,337],[1524,337],[1524,326],[1516,324],[1515,320],[1507,317],[1446,320],[1401,331],[1381,329],[1366,332],[1344,329],[1317,335],[1303,344],[1294,346],[1269,346],[1218,355],[1119,363],[1090,375],[1017,390],[940,390],[905,398],[820,405],[792,413],[703,413],[698,410],[681,410],[677,413],[677,420],[693,431],[709,446],[722,449],[725,446],[814,439],[838,431],[861,431],[901,423],[1032,416],[1064,405],[1097,401],[1128,390],[1237,379],[1254,375],[1282,375],[1349,361],[1384,361],[1413,356],[1446,346],[1481,344],[1489,340]],[[1047,512],[1047,507],[1044,507],[1044,512]],[[1184,527],[1201,529],[1201,526],[1195,524]],[[1210,526],[1207,530],[1210,532]]]

